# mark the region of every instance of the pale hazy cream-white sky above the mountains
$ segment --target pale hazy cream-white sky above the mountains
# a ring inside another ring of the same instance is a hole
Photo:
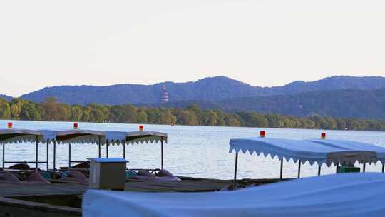
[[[0,1],[0,93],[385,76],[385,1]]]

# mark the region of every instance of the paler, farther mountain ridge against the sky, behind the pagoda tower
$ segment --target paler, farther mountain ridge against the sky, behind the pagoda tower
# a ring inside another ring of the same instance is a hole
[[[380,89],[385,87],[385,77],[333,76],[319,81],[294,81],[285,86],[250,86],[241,81],[216,76],[195,82],[166,82],[170,102],[197,100],[220,101],[240,97],[298,94],[309,91],[332,91],[340,89]],[[41,102],[54,96],[67,104],[156,104],[160,101],[162,84],[138,85],[117,84],[113,86],[53,86],[21,96]]]

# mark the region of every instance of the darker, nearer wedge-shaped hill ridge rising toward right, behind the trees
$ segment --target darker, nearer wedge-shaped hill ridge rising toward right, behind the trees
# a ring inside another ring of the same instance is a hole
[[[310,91],[299,94],[244,97],[220,101],[178,101],[165,105],[147,106],[185,108],[190,104],[197,104],[203,109],[221,109],[224,111],[259,111],[260,113],[279,113],[291,116],[319,115],[385,120],[385,88]]]

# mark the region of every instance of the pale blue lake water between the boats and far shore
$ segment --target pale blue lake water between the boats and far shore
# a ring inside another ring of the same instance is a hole
[[[9,121],[0,121],[0,126],[6,127]],[[27,129],[71,129],[73,123],[46,121],[12,121],[14,128]],[[81,129],[99,131],[137,131],[138,124],[123,123],[79,123]],[[3,127],[1,127],[3,128]],[[259,136],[260,130],[265,130],[271,138],[319,138],[321,130],[279,129],[279,128],[245,128],[217,126],[165,126],[145,125],[145,130],[168,133],[168,144],[164,146],[164,167],[180,176],[202,178],[231,179],[234,173],[235,153],[229,153],[230,138]],[[327,131],[327,138],[348,139],[375,143],[385,146],[384,132],[366,131]],[[126,158],[130,168],[160,168],[160,143],[129,145],[125,148]],[[0,149],[1,151],[1,149]],[[50,147],[50,161],[53,149]],[[122,146],[110,146],[109,157],[121,157]],[[6,145],[6,161],[34,161],[34,143]],[[68,166],[68,145],[56,146],[56,167]],[[102,157],[106,148],[102,148]],[[73,144],[72,161],[85,161],[86,158],[98,156],[98,146],[92,144]],[[0,161],[2,161],[2,154]],[[46,145],[40,144],[39,158],[46,159]],[[50,162],[52,166],[52,161]],[[8,165],[9,166],[9,165]],[[34,165],[31,165],[34,166]],[[279,178],[280,161],[277,158],[266,158],[249,153],[240,153],[238,161],[238,178]],[[359,166],[357,164],[357,166]],[[40,168],[46,168],[44,164]],[[297,177],[298,164],[284,161],[284,178]],[[381,171],[381,163],[366,165],[366,171]],[[322,174],[334,173],[335,167],[322,166]],[[310,166],[306,163],[301,167],[301,176],[317,176],[317,164]]]

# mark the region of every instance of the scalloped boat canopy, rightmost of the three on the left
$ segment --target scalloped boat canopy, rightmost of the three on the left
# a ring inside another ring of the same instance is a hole
[[[138,144],[164,141],[167,143],[167,138],[167,133],[160,133],[155,131],[106,131],[106,142],[108,141],[108,145],[120,145],[123,142]]]

